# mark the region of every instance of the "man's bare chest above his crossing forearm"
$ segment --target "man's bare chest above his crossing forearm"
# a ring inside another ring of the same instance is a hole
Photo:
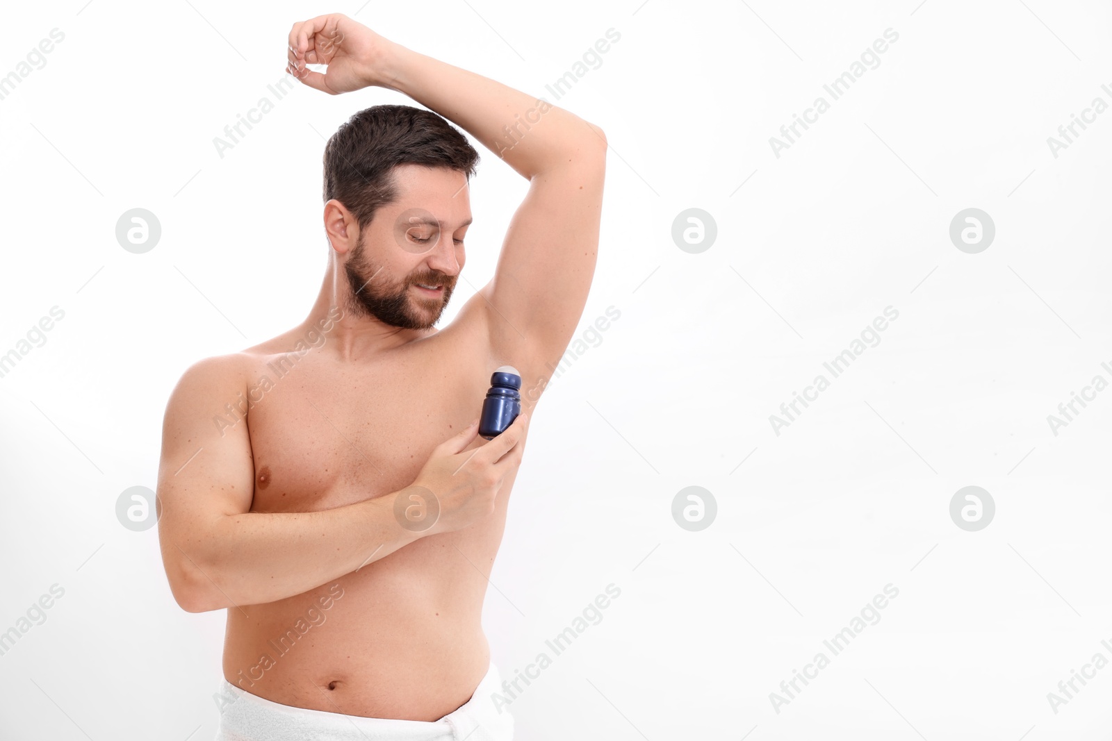
[[[484,357],[443,350],[344,364],[322,356],[272,372],[247,419],[251,511],[331,509],[411,483],[433,449],[478,415],[493,371]]]

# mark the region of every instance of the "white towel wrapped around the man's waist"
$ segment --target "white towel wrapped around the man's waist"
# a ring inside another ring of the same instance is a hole
[[[416,721],[294,708],[221,680],[226,704],[216,741],[510,741],[514,718],[492,699],[500,691],[502,677],[492,661],[470,700],[440,720]]]

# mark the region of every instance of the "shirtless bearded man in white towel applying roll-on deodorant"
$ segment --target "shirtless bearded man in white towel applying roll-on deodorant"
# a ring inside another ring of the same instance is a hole
[[[218,700],[219,738],[254,738],[232,725],[268,712],[298,719],[291,739],[348,738],[311,733],[337,719],[359,730],[350,738],[463,738],[457,709],[493,709],[477,691],[497,677],[483,600],[528,418],[590,288],[606,138],[342,14],[295,23],[288,57],[322,92],[378,86],[435,113],[381,106],[339,128],[325,150],[328,266],[305,321],[197,362],[173,389],[158,478],[163,564],[185,610],[228,610],[222,687],[235,692]],[[477,152],[436,113],[529,181],[493,280],[440,330]],[[285,294],[276,289],[260,300]],[[504,364],[520,373],[522,414],[487,441],[474,422]],[[396,514],[436,509],[420,527]],[[228,720],[245,705],[254,714]],[[456,735],[443,735],[449,725]]]

